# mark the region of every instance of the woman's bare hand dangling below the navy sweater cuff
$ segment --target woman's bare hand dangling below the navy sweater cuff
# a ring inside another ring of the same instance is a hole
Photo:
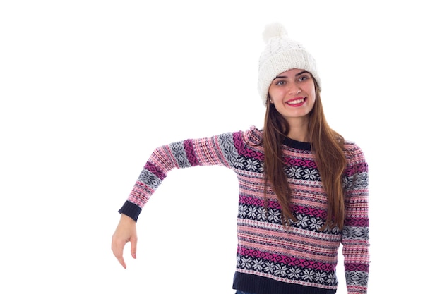
[[[112,235],[112,252],[117,257],[119,263],[126,269],[126,262],[123,258],[124,245],[131,243],[131,255],[136,258],[136,222],[131,217],[121,214],[120,221]]]

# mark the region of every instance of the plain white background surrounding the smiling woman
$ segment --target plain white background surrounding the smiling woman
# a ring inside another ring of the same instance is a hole
[[[155,147],[262,126],[256,70],[273,21],[315,56],[328,122],[369,161],[369,293],[436,293],[435,3],[1,1],[0,293],[233,293],[231,171],[172,171],[128,269],[110,240]]]

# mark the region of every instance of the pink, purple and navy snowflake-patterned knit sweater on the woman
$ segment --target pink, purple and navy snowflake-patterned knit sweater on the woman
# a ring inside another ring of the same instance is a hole
[[[368,168],[362,150],[345,141],[345,227],[321,231],[327,195],[311,145],[286,139],[285,172],[293,189],[297,222],[282,226],[273,191],[263,198],[262,130],[255,127],[158,147],[119,210],[135,221],[167,172],[191,166],[232,169],[239,183],[237,270],[233,288],[256,294],[329,294],[338,288],[336,264],[342,243],[348,293],[366,293],[369,276]],[[270,188],[269,188],[270,189]]]

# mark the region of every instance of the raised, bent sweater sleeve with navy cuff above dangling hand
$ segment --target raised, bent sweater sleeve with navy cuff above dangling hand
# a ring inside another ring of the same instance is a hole
[[[234,152],[231,152],[232,137],[233,133],[225,133],[157,147],[143,167],[119,213],[137,221],[141,209],[172,169],[209,165],[229,167],[234,160]]]

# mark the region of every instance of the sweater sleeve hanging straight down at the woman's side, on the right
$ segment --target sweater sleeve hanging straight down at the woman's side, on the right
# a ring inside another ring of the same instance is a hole
[[[350,294],[365,294],[369,278],[369,174],[362,150],[347,149],[345,224],[342,231],[345,280]]]

